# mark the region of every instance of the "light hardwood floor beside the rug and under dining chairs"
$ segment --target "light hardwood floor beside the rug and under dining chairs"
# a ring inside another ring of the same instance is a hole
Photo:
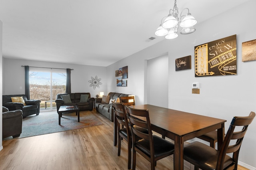
[[[104,125],[3,141],[0,170],[126,170],[126,141],[121,142],[121,155],[117,156],[113,123],[92,113]],[[145,169],[150,169],[150,163],[137,154],[136,170]],[[158,160],[156,170],[173,170],[173,156]]]

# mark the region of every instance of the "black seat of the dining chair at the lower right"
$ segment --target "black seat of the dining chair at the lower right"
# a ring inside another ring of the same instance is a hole
[[[184,159],[204,170],[215,170],[219,151],[201,142],[192,142],[184,147]],[[233,159],[226,155],[224,166],[234,164]]]

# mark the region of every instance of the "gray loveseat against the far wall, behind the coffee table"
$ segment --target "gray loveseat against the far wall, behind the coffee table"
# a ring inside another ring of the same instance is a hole
[[[61,96],[69,95],[71,103],[65,103]],[[81,101],[81,95],[88,95],[88,99],[86,101]],[[60,109],[60,106],[75,106],[77,105],[80,111],[92,111],[94,98],[91,98],[90,93],[62,93],[56,96],[55,103],[57,105],[57,112]]]

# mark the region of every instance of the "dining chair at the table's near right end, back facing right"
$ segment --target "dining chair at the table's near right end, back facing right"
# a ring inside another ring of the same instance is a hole
[[[254,112],[251,112],[247,117],[234,117],[220,150],[201,142],[185,145],[184,160],[194,164],[195,170],[199,168],[203,170],[236,170],[242,140],[254,117]],[[241,126],[242,128],[238,128]],[[236,131],[234,131],[235,128]],[[233,153],[232,157],[228,156],[228,153]]]

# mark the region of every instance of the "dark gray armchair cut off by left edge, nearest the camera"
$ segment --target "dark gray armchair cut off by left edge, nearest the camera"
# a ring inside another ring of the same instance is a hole
[[[9,111],[2,107],[3,111],[3,135],[2,138],[12,136],[16,138],[22,132],[22,110]]]

